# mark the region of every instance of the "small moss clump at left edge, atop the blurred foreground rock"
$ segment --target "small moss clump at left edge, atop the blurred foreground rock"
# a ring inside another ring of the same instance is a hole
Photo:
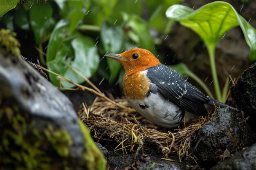
[[[20,56],[20,42],[15,36],[16,33],[12,33],[9,29],[0,30],[0,50],[4,55],[11,53]]]

